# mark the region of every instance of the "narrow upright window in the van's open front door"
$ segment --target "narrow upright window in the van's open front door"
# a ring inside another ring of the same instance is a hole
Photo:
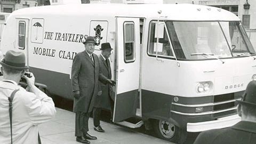
[[[134,36],[134,23],[124,23],[124,61],[135,61],[135,36]]]

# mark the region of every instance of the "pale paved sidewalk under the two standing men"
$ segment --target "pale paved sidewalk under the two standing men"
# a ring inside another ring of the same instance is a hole
[[[57,115],[54,119],[39,125],[39,133],[43,144],[79,144],[75,138],[75,113],[56,108]],[[171,143],[150,135],[125,129],[121,126],[101,122],[105,133],[93,130],[93,119],[89,119],[89,133],[96,136],[97,140],[90,140],[94,143],[116,144],[150,144],[150,143]]]

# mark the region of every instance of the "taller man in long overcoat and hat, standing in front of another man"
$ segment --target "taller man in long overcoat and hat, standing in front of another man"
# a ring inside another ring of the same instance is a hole
[[[89,133],[88,121],[98,94],[98,81],[104,84],[112,83],[101,74],[99,59],[94,54],[95,38],[88,36],[83,42],[85,51],[79,52],[73,59],[71,82],[74,94],[73,111],[76,112],[75,136],[76,141],[90,143],[94,140]]]

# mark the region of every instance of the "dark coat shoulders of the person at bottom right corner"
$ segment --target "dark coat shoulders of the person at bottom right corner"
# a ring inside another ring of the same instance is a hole
[[[256,143],[256,123],[241,121],[231,127],[201,132],[194,144]]]

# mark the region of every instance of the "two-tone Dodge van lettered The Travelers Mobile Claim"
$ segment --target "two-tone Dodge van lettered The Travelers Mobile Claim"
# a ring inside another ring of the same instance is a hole
[[[255,78],[256,60],[235,14],[193,4],[30,7],[9,16],[1,49],[24,52],[36,82],[71,100],[72,61],[87,36],[97,39],[97,54],[101,43],[114,48],[113,122],[145,124],[182,143],[187,132],[240,121],[235,101]]]

